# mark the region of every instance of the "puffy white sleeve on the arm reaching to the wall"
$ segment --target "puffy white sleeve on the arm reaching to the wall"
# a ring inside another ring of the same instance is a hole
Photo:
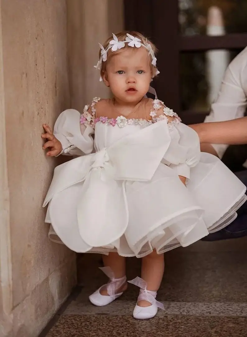
[[[89,119],[89,114],[86,105],[82,115],[74,109],[65,110],[59,115],[54,125],[54,136],[62,144],[60,154],[82,156],[93,151],[94,127],[92,123],[82,123],[85,116]]]

